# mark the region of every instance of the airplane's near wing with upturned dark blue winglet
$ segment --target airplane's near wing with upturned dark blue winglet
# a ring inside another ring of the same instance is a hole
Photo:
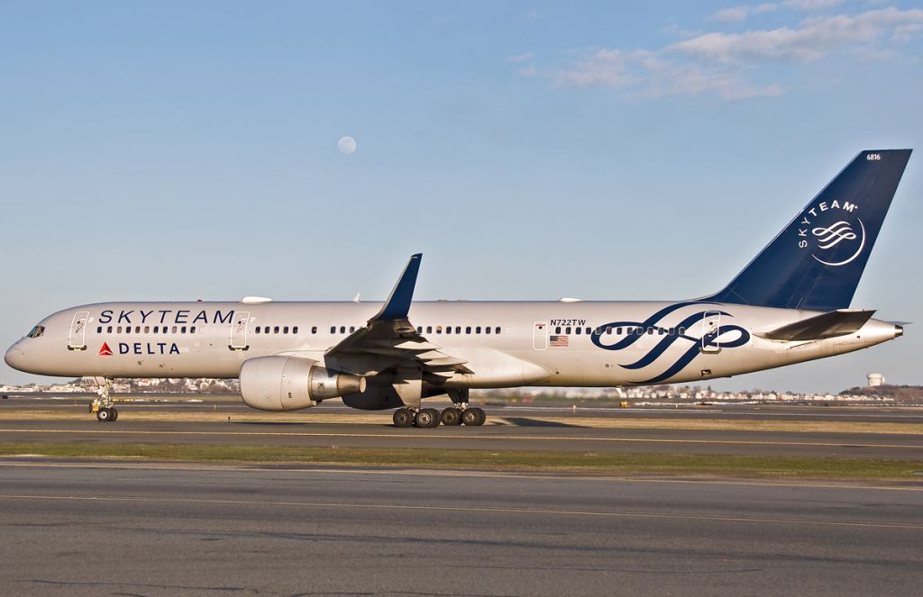
[[[325,360],[335,362],[339,368],[356,375],[374,376],[394,370],[414,372],[448,379],[456,373],[472,373],[465,367],[467,361],[453,357],[421,335],[408,319],[414,298],[416,276],[423,255],[411,256],[401,279],[395,284],[388,301],[378,314],[330,348]]]

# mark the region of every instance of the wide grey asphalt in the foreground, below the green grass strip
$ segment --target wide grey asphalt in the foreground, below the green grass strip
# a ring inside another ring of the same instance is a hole
[[[5,595],[909,595],[923,490],[0,460]]]

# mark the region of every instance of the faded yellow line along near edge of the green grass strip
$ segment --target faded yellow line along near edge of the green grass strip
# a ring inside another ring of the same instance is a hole
[[[697,485],[741,485],[755,487],[800,487],[812,489],[862,489],[875,491],[909,491],[923,492],[923,484],[919,486],[893,486],[893,485],[862,485],[855,483],[848,484],[822,484],[822,483],[792,483],[792,482],[765,482],[765,481],[735,481],[728,479],[717,481],[714,479],[645,479],[639,477],[626,477],[622,475],[570,475],[570,474],[536,474],[534,472],[481,472],[481,471],[438,471],[436,469],[401,469],[401,470],[382,470],[382,469],[364,469],[355,467],[354,469],[306,469],[306,468],[266,468],[254,466],[238,466],[233,463],[224,465],[202,464],[198,466],[189,466],[188,464],[174,464],[163,462],[152,464],[150,462],[138,461],[126,464],[114,464],[110,462],[7,462],[4,459],[16,458],[15,456],[0,456],[0,469],[4,467],[24,468],[24,469],[116,469],[116,470],[147,470],[147,471],[182,471],[182,472],[272,472],[272,473],[299,473],[299,474],[377,474],[377,475],[405,475],[405,476],[429,476],[429,477],[473,477],[485,479],[521,479],[528,481],[599,481],[607,483],[655,483],[655,484],[697,484]],[[42,457],[44,458],[44,457]],[[322,466],[322,465],[320,465]]]

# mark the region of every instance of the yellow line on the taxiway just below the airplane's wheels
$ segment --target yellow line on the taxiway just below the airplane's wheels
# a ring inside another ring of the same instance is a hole
[[[367,439],[469,439],[469,440],[541,440],[541,441],[590,441],[590,442],[623,442],[646,444],[718,444],[718,445],[745,445],[745,446],[810,446],[827,448],[912,448],[923,449],[923,442],[919,444],[857,444],[855,442],[793,442],[793,441],[763,441],[763,440],[732,440],[732,439],[660,439],[645,437],[580,437],[580,436],[434,436],[432,434],[347,434],[347,433],[295,433],[283,431],[131,431],[114,430],[98,431],[91,429],[0,429],[0,433],[10,434],[95,434],[113,436],[279,436],[279,437],[358,437]]]

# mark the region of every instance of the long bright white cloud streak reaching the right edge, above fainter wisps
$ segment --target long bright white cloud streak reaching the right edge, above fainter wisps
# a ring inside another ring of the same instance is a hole
[[[668,47],[721,63],[813,61],[839,50],[860,51],[881,40],[905,41],[923,26],[923,9],[893,6],[855,16],[808,18],[797,28],[706,33]]]

